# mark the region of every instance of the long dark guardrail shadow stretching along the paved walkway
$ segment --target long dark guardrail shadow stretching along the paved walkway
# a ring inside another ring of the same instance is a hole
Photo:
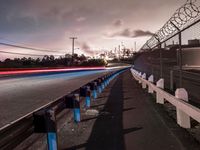
[[[96,119],[87,143],[76,145],[65,150],[124,150],[124,135],[141,130],[142,127],[123,129],[123,112],[135,109],[123,108],[123,76],[120,75],[110,90],[110,94],[102,112]]]

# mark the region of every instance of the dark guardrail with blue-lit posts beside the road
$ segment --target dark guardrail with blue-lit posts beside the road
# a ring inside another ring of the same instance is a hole
[[[32,134],[44,133],[47,134],[48,149],[57,150],[56,116],[63,110],[70,109],[73,110],[74,121],[80,122],[81,100],[84,100],[85,106],[89,108],[91,98],[96,99],[111,80],[127,69],[120,69],[93,80],[70,94],[62,96],[0,128],[0,149],[13,149]]]

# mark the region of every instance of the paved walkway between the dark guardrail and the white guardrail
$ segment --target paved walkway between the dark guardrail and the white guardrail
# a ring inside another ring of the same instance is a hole
[[[80,124],[68,122],[59,131],[59,149],[185,149],[129,71],[112,81],[92,105],[100,114],[83,111]]]

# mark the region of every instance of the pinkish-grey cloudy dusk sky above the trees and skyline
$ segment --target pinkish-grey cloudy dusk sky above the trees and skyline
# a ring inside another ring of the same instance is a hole
[[[122,44],[137,50],[160,29],[185,0],[0,0],[0,51],[35,55],[95,54]],[[53,50],[55,52],[45,51]],[[3,54],[0,59],[17,57]]]

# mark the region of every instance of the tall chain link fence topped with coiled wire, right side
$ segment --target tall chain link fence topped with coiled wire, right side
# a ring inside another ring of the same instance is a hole
[[[200,1],[187,0],[177,9],[143,45],[134,66],[155,81],[164,78],[169,92],[185,88],[200,104]]]

